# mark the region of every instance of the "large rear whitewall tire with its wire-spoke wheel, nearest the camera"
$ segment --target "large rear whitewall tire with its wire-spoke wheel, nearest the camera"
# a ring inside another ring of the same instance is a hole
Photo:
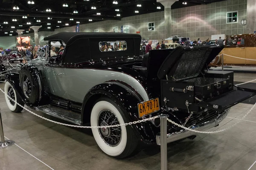
[[[91,126],[119,125],[129,122],[122,109],[111,99],[102,98],[93,105],[90,117]],[[94,139],[100,149],[117,159],[125,158],[137,147],[137,137],[130,125],[113,128],[92,128]]]

